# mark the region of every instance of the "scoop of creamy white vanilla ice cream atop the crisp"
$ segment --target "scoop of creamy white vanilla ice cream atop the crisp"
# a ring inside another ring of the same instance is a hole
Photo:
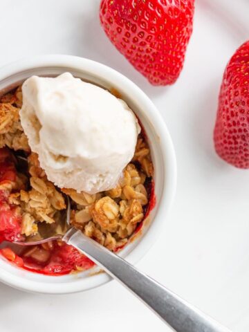
[[[89,194],[115,187],[140,132],[127,104],[70,73],[32,76],[22,92],[21,125],[48,180]]]

